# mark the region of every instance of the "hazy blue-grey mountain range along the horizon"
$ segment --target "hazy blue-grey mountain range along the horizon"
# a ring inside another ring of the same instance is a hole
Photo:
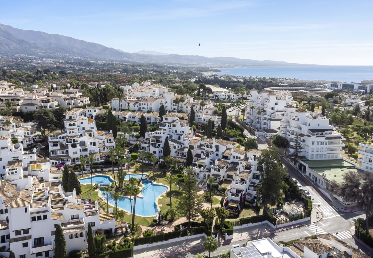
[[[119,62],[144,62],[164,65],[195,66],[300,66],[304,64],[271,60],[239,59],[235,57],[204,57],[167,54],[156,51],[128,53],[97,43],[77,40],[59,34],[23,30],[0,23],[0,56],[28,55],[44,58],[79,58]]]

